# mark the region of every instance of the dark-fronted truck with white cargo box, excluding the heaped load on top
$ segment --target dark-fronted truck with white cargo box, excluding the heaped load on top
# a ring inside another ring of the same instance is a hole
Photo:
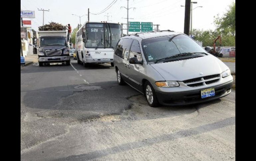
[[[39,31],[39,66],[70,65],[69,44],[66,31]]]

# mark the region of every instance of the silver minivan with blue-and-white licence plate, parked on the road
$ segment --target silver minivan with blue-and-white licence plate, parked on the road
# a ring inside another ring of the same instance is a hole
[[[188,105],[231,92],[229,68],[183,33],[160,31],[122,37],[114,51],[120,85],[146,96],[149,106]]]

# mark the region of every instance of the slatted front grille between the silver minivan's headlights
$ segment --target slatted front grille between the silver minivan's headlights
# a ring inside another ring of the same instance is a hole
[[[219,81],[219,79],[220,79],[220,74],[214,74],[214,75],[208,75],[208,76],[199,77],[199,78],[188,79],[183,81],[183,83],[185,83],[189,87],[197,87],[197,86],[203,86],[203,85],[215,83]]]

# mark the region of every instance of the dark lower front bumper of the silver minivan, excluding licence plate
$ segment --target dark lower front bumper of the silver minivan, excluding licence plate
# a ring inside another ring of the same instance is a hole
[[[215,90],[215,96],[208,98],[201,98],[201,90],[191,90],[185,92],[160,92],[155,91],[157,95],[157,99],[160,104],[164,106],[174,106],[174,105],[190,105],[201,102],[207,102],[210,100],[219,99],[228,95],[231,92],[231,87],[233,85],[233,80],[227,83],[213,86]]]

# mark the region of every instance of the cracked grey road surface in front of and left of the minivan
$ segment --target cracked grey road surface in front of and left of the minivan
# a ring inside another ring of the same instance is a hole
[[[235,160],[235,91],[152,108],[110,64],[21,68],[21,160]]]

